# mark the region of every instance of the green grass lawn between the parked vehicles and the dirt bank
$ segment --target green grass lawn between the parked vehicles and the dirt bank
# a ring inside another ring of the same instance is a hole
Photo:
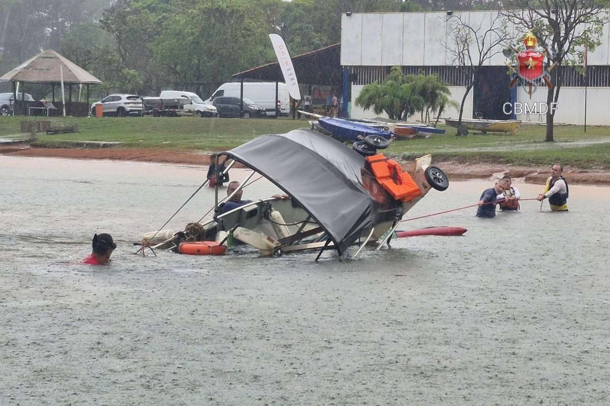
[[[17,135],[23,118],[0,117],[0,137],[12,138]],[[82,132],[40,134],[34,145],[52,147],[65,141],[115,141],[123,142],[124,147],[205,152],[230,149],[259,135],[281,134],[295,128],[309,127],[306,120],[287,118],[81,117],[52,118],[51,121],[58,125],[79,121]],[[584,169],[610,169],[610,127],[587,127],[584,133],[582,126],[556,126],[556,142],[544,142],[545,127],[538,125],[523,125],[515,135],[470,134],[456,137],[455,133],[455,128],[447,128],[446,135],[394,141],[386,151],[404,159],[432,153],[437,160],[542,165],[559,161]]]

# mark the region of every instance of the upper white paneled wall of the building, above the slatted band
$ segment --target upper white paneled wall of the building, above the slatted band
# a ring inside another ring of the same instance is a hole
[[[470,22],[473,27],[480,26],[483,31],[494,23],[496,26],[501,23],[497,11],[463,12],[460,15],[464,21]],[[446,12],[343,14],[341,65],[453,65],[451,54],[445,47],[450,45],[447,43],[450,26]],[[512,26],[507,29],[517,34],[523,33]],[[609,24],[605,25],[600,41],[600,46],[589,52],[589,65],[610,65]],[[501,51],[502,47],[504,45],[498,46],[496,51]],[[504,59],[500,52],[486,65],[503,66]]]

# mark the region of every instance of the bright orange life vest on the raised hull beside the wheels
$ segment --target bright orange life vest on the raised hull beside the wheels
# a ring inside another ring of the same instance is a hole
[[[403,168],[397,161],[386,158],[381,153],[367,156],[366,159],[376,180],[395,200],[407,202],[422,195],[422,191],[415,184],[411,175],[403,172]]]

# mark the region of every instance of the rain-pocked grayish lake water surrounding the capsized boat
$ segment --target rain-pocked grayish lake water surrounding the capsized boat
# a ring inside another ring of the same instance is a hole
[[[493,220],[406,222],[468,232],[357,259],[135,256],[206,173],[0,156],[0,404],[608,404],[610,188],[570,186],[569,213],[523,201]],[[490,186],[453,182],[405,218]],[[244,198],[276,192],[260,180]],[[166,228],[213,198],[203,189]],[[104,232],[112,264],[79,265]]]

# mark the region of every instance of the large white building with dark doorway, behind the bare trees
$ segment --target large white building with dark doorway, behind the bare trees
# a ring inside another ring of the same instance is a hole
[[[462,19],[470,24],[490,27],[497,21],[497,11],[464,12]],[[353,13],[341,19],[341,65],[348,67],[351,75],[351,116],[370,117],[372,111],[363,111],[354,100],[362,87],[375,80],[383,80],[392,66],[401,66],[404,74],[439,75],[450,85],[456,102],[464,96],[467,80],[465,69],[455,66],[447,51],[447,12],[421,13]],[[606,102],[610,100],[610,30],[608,24],[601,35],[601,45],[588,54],[587,76],[587,124],[610,125]],[[508,85],[510,77],[504,64],[505,58],[498,52],[481,72],[479,86],[470,90],[464,105],[464,117],[472,118],[481,113],[487,119],[508,119],[504,114],[506,102],[546,102],[547,88],[539,87],[531,100],[523,88],[513,91]],[[555,123],[583,124],[585,88],[582,75],[575,67],[562,68],[563,85],[559,93]],[[534,102],[534,103],[533,103]],[[443,117],[458,117],[458,111],[443,112]],[[417,118],[417,117],[414,117]],[[545,121],[544,114],[517,114],[523,121]]]

